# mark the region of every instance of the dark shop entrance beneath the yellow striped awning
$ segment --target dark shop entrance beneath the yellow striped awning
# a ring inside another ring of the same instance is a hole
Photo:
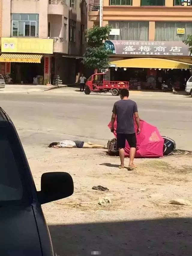
[[[41,63],[11,63],[11,77],[15,84],[33,84],[34,77],[38,76],[44,76],[43,58]]]

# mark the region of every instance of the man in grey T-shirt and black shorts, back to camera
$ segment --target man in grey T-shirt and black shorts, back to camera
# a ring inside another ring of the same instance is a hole
[[[119,156],[121,160],[120,169],[124,168],[125,158],[125,142],[126,140],[130,146],[129,153],[129,167],[137,168],[133,161],[136,152],[137,139],[134,129],[134,116],[137,123],[137,134],[140,133],[140,120],[137,111],[137,104],[134,101],[128,99],[128,89],[122,89],[120,91],[121,100],[117,101],[113,106],[113,114],[111,117],[111,132],[114,132],[114,122],[117,116],[117,146],[119,148]]]

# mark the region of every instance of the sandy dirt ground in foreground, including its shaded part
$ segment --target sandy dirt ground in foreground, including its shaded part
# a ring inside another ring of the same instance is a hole
[[[169,203],[192,203],[191,153],[136,159],[137,170],[128,171],[104,149],[25,150],[37,189],[47,171],[68,172],[74,181],[71,197],[42,206],[58,255],[191,255],[192,206]],[[109,191],[91,189],[97,185]],[[111,203],[100,206],[105,196]]]

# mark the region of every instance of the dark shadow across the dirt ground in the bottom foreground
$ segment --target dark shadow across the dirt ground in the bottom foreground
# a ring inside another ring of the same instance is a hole
[[[162,218],[58,224],[49,230],[60,256],[98,254],[93,251],[104,256],[191,256],[191,224],[191,218]]]

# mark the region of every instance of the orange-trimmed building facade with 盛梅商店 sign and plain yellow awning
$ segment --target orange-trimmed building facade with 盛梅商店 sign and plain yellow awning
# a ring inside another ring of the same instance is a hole
[[[88,26],[99,26],[99,1],[89,1]],[[107,47],[116,70],[183,69],[188,76],[191,56],[182,41],[192,35],[191,0],[103,0],[103,26],[107,24],[112,27]],[[114,68],[111,73],[117,74]]]

